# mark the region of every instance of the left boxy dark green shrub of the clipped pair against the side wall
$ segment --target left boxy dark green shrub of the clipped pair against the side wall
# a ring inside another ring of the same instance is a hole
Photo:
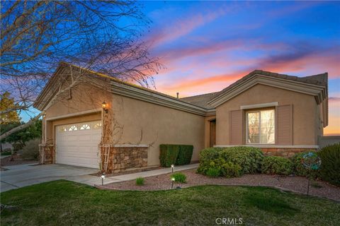
[[[176,163],[177,156],[179,155],[179,145],[161,144],[159,149],[159,160],[162,167],[171,167],[171,165]]]

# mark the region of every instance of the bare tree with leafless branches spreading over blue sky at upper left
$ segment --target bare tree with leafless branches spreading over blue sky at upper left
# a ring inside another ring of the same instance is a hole
[[[1,1],[1,88],[16,98],[16,108],[6,112],[29,111],[60,61],[154,85],[152,74],[162,65],[141,40],[150,23],[141,7],[135,1]]]

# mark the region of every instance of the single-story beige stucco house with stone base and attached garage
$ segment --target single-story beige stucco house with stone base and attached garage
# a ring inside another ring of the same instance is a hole
[[[176,98],[61,63],[34,103],[45,112],[40,161],[118,171],[159,165],[160,144],[193,145],[193,162],[211,146],[317,149],[327,79],[256,70],[220,92]]]

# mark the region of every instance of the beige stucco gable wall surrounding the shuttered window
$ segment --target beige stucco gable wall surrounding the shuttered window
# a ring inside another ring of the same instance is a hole
[[[318,107],[314,97],[261,84],[249,88],[217,107],[217,145],[230,144],[229,112],[231,110],[240,109],[242,105],[268,102],[278,102],[279,105],[293,105],[293,145],[317,145],[317,135],[320,131]]]

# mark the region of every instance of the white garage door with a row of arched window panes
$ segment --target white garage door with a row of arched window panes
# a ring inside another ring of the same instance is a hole
[[[57,126],[55,162],[98,169],[100,142],[101,121]]]

